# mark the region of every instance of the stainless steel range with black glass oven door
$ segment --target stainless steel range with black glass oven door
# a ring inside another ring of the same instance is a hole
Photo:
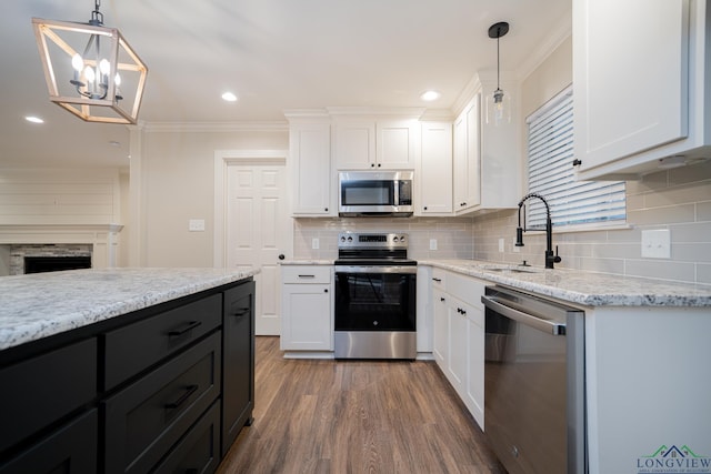
[[[339,234],[337,359],[415,359],[417,262],[408,242],[403,233]]]

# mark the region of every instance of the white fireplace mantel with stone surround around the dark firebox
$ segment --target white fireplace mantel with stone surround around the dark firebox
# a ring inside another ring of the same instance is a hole
[[[24,273],[24,256],[91,255],[94,269],[114,268],[120,224],[0,225],[0,245],[10,245],[10,274]],[[22,260],[20,264],[19,261]]]

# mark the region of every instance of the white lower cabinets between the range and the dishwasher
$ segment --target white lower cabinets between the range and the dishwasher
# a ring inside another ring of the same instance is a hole
[[[433,344],[440,370],[472,416],[484,426],[485,283],[441,269],[432,272]]]

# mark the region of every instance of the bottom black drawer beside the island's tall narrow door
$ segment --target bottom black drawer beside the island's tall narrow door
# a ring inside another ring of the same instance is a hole
[[[154,474],[212,473],[220,463],[220,402],[190,428]]]

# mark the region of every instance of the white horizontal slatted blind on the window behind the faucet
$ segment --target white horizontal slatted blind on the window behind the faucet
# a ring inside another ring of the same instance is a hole
[[[554,226],[593,222],[624,222],[623,181],[575,181],[573,170],[572,87],[553,98],[528,120],[529,192],[541,194]],[[529,200],[527,228],[545,228],[545,206]]]

